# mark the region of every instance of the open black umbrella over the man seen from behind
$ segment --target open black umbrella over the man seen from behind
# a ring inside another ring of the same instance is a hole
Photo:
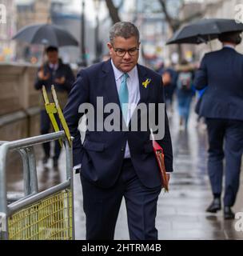
[[[243,31],[243,24],[237,23],[234,19],[205,18],[177,30],[166,44],[199,44],[201,42],[209,42],[217,38],[219,34],[237,31]]]

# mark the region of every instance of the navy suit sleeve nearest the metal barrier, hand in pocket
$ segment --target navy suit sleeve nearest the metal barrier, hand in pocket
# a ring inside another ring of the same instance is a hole
[[[78,130],[78,124],[81,113],[78,112],[79,106],[82,103],[86,103],[89,100],[89,82],[86,75],[86,71],[82,70],[78,73],[77,79],[72,86],[67,104],[64,109],[64,116],[66,118],[67,125],[70,129],[70,134],[74,137],[73,141],[73,154],[74,154],[74,166],[82,163],[82,142],[81,135]]]

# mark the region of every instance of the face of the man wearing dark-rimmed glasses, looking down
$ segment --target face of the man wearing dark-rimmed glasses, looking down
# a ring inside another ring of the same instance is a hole
[[[137,65],[139,51],[137,50],[140,42],[137,42],[136,37],[131,38],[114,38],[113,44],[107,43],[110,50],[110,57],[114,62],[114,66],[124,73],[129,72]],[[121,56],[123,55],[123,56]]]

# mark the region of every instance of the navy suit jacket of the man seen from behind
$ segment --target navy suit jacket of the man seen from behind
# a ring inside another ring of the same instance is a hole
[[[206,118],[243,120],[243,55],[224,47],[205,54],[194,85],[206,87],[199,114]]]

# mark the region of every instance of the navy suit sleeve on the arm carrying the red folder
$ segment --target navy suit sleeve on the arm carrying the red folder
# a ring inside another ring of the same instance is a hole
[[[164,93],[164,86],[162,85],[162,81],[158,86],[158,103],[165,103],[165,93]],[[159,111],[157,111],[158,114]],[[165,108],[165,135],[164,138],[158,140],[157,143],[163,148],[165,154],[165,170],[166,172],[173,172],[173,150],[172,150],[172,142],[170,138],[169,132],[169,120],[166,113]]]

